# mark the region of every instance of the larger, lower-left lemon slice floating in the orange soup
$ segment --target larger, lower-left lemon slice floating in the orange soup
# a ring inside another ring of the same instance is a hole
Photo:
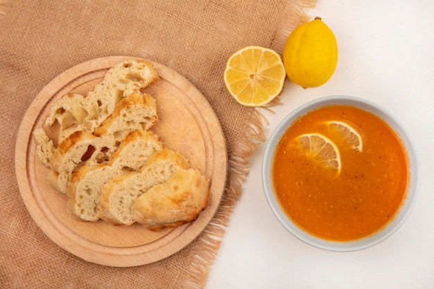
[[[313,157],[328,168],[336,169],[337,174],[340,173],[342,169],[340,152],[336,144],[328,137],[323,134],[311,133],[301,134],[297,139],[302,144],[306,155]]]

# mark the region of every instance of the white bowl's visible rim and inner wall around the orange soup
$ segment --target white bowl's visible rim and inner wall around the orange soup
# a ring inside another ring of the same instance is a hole
[[[363,110],[371,112],[376,116],[379,116],[381,119],[383,119],[383,121],[388,123],[388,125],[394,130],[394,132],[398,134],[406,148],[408,160],[410,161],[410,183],[408,184],[406,199],[404,200],[401,208],[399,209],[394,219],[388,222],[388,225],[386,225],[383,229],[376,232],[376,234],[372,236],[345,242],[335,242],[312,236],[311,234],[297,227],[297,225],[295,225],[286,216],[275,198],[275,193],[272,191],[270,168],[272,164],[272,157],[275,152],[277,143],[279,142],[279,139],[281,139],[284,132],[286,132],[287,128],[295,121],[295,119],[306,114],[307,112],[310,112],[311,110],[314,110],[315,108],[325,105],[352,105],[354,107],[359,107]],[[410,212],[413,209],[417,198],[417,191],[419,186],[419,164],[417,161],[417,156],[415,154],[413,143],[408,137],[408,133],[406,132],[403,125],[398,121],[398,119],[396,119],[392,114],[390,114],[390,112],[385,110],[383,107],[380,107],[379,105],[376,105],[375,103],[372,103],[363,98],[356,98],[353,96],[327,96],[324,98],[313,100],[310,103],[306,103],[305,105],[298,107],[288,116],[286,116],[286,118],[277,126],[276,130],[272,133],[270,140],[267,143],[266,150],[263,156],[262,182],[263,189],[265,191],[266,198],[272,212],[275,214],[277,220],[281,222],[281,225],[283,225],[288,231],[290,231],[290,233],[292,233],[294,236],[304,241],[305,243],[313,245],[314,247],[318,247],[320,249],[327,249],[338,252],[350,252],[365,249],[367,247],[371,247],[382,242],[383,240],[391,236],[395,231],[397,231],[397,229],[401,227],[403,222],[406,221],[406,219],[410,215]]]

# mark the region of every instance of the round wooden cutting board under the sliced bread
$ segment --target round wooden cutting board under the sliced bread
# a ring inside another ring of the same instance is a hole
[[[166,148],[181,152],[191,167],[209,177],[211,196],[207,209],[195,222],[160,231],[150,231],[139,224],[81,222],[67,213],[67,195],[51,189],[47,181],[49,168],[37,158],[33,130],[42,127],[53,101],[69,92],[87,94],[103,80],[108,69],[128,59],[138,58],[114,56],[89,60],[54,78],[28,107],[15,148],[21,197],[42,231],[85,261],[116,267],[153,263],[189,245],[214,217],[227,177],[225,138],[214,110],[186,78],[152,62],[161,80],[144,89],[157,100],[159,122],[150,130],[162,139]]]

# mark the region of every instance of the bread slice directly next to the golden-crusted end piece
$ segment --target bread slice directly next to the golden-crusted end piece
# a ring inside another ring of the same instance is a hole
[[[164,149],[152,155],[139,172],[117,175],[101,190],[98,216],[109,222],[131,225],[134,201],[157,184],[166,182],[177,170],[188,168],[185,157]]]

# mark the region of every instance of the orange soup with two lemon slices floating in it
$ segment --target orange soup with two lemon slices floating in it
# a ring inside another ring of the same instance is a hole
[[[406,149],[378,116],[326,105],[296,119],[275,148],[272,189],[298,227],[325,240],[365,238],[406,199]]]

